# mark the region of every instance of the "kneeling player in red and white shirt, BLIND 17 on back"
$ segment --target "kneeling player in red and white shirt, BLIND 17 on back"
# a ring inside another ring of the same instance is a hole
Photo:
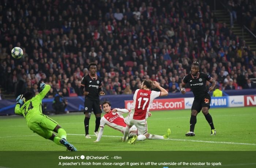
[[[151,91],[150,89],[153,85],[160,89],[160,92]],[[127,126],[125,127],[123,141],[126,140],[129,130],[133,125],[137,127],[138,135],[145,135],[146,137],[150,135],[147,132],[146,121],[149,108],[155,98],[167,95],[168,92],[162,88],[157,81],[154,81],[153,83],[151,80],[143,80],[141,88],[137,89],[133,95],[133,105],[131,112],[125,118],[125,123]],[[133,140],[136,140],[136,136]]]

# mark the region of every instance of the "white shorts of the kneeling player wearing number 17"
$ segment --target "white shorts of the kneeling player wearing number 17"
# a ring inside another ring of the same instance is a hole
[[[147,120],[146,119],[134,120],[134,119],[131,119],[131,117],[127,116],[127,117],[125,117],[124,122],[127,125],[132,126],[132,127],[135,125],[136,126],[135,128],[138,129],[137,135],[144,135],[147,133]],[[131,131],[131,129],[130,129],[130,131]]]

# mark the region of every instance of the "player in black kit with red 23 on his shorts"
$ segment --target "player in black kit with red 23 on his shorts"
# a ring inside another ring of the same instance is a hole
[[[195,136],[194,129],[196,124],[196,116],[201,111],[201,109],[206,120],[211,126],[211,135],[216,135],[212,117],[209,113],[211,96],[206,89],[206,80],[212,83],[212,86],[209,88],[209,91],[212,91],[216,85],[216,81],[210,75],[199,72],[198,62],[193,62],[191,73],[186,75],[182,80],[180,87],[181,93],[186,93],[184,87],[188,83],[195,96],[191,108],[190,131],[185,134],[186,136]]]

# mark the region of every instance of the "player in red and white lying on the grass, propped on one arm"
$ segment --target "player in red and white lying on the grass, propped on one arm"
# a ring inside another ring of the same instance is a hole
[[[120,131],[121,133],[124,134],[124,129],[126,127],[126,124],[124,122],[124,117],[123,117],[123,113],[128,113],[128,109],[120,109],[120,108],[114,108],[113,110],[111,110],[111,104],[109,101],[104,101],[102,103],[102,107],[103,110],[106,112],[106,114],[101,118],[101,124],[100,124],[100,129],[99,129],[99,134],[97,137],[97,140],[95,140],[94,142],[98,142],[101,140],[101,136],[103,135],[103,129],[105,125],[108,125],[109,127],[116,129],[117,131]],[[151,116],[151,113],[148,112],[147,116]],[[138,130],[135,127],[135,125],[133,125],[129,131],[128,134],[128,139],[132,138],[134,136],[137,136]],[[139,135],[137,140],[139,141],[143,141],[146,138],[147,139],[168,139],[169,135],[170,135],[171,131],[170,129],[167,130],[167,134],[160,136],[160,135],[152,135],[150,133],[147,133],[146,135]],[[135,140],[135,138],[133,138],[130,143],[133,143]],[[133,141],[133,142],[132,142]]]

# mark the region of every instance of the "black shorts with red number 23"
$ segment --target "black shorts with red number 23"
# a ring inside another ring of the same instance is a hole
[[[210,94],[205,94],[201,99],[194,99],[192,104],[192,110],[196,110],[197,112],[200,112],[202,107],[208,107],[210,109],[211,104],[211,96]]]

